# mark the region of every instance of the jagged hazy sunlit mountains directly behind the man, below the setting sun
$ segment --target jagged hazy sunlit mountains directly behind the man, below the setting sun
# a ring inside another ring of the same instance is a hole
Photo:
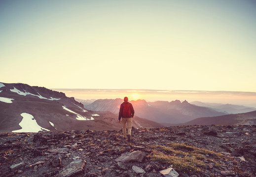
[[[118,114],[122,99],[99,99],[84,107],[92,111],[110,111]],[[187,101],[130,101],[135,109],[135,115],[156,122],[183,123],[194,118],[225,115],[213,109],[195,106]]]

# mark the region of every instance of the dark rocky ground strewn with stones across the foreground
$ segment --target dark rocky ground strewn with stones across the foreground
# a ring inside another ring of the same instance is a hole
[[[1,177],[256,177],[256,126],[0,133]],[[176,171],[176,173],[174,173]],[[177,175],[179,174],[179,175]]]

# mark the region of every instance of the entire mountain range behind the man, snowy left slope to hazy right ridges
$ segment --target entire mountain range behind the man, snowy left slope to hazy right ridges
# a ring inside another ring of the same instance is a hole
[[[117,118],[122,99],[79,101],[44,87],[0,83],[0,132],[121,129]],[[256,111],[228,115],[227,111],[223,113],[223,105],[222,112],[218,112],[206,105],[202,107],[179,100],[130,102],[135,109],[133,127],[137,129],[194,124],[256,124]],[[231,107],[240,111],[253,109]]]

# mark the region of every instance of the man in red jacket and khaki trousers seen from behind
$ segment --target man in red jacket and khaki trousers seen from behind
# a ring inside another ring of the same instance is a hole
[[[122,125],[123,137],[125,139],[128,138],[128,142],[131,141],[133,116],[134,116],[133,105],[128,102],[127,97],[124,97],[124,102],[120,105],[118,121],[119,123],[121,122],[121,125]],[[126,133],[126,124],[127,124],[128,133]]]

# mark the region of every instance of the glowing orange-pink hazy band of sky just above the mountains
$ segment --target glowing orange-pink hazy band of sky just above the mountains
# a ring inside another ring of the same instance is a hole
[[[236,104],[256,107],[256,92],[203,91],[203,90],[154,90],[154,89],[53,89],[77,99],[116,99],[128,96],[129,100],[201,101],[205,103]]]

